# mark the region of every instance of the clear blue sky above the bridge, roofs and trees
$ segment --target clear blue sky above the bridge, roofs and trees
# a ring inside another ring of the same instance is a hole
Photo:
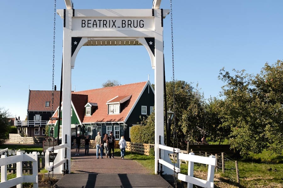
[[[152,0],[73,0],[75,9],[152,8]],[[175,80],[192,83],[205,98],[217,97],[219,70],[257,74],[266,62],[283,59],[283,1],[173,0]],[[64,0],[57,0],[64,9]],[[170,1],[162,0],[169,9]],[[0,2],[0,107],[12,117],[26,116],[29,87],[52,89],[54,1]],[[63,20],[56,14],[55,77],[60,89]],[[172,80],[170,15],[164,19],[166,81]],[[100,88],[108,79],[121,84],[154,83],[143,46],[84,46],[72,70],[72,90]]]

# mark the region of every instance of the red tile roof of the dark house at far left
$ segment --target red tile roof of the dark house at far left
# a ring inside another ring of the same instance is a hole
[[[59,106],[60,91],[54,91],[52,108],[52,91],[30,90],[28,111],[55,111]],[[49,107],[45,107],[45,102],[49,101]]]

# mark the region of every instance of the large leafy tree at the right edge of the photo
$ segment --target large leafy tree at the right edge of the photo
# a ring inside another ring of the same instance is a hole
[[[230,127],[229,142],[242,155],[261,153],[269,149],[282,151],[283,64],[265,64],[261,73],[253,76],[245,70],[233,70],[234,76],[222,69],[219,79],[225,96],[221,111],[222,126]]]

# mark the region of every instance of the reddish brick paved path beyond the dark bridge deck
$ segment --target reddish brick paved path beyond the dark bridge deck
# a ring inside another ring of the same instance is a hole
[[[85,149],[80,149],[80,155],[75,155],[75,149],[71,149],[71,172],[73,173],[99,173],[99,174],[152,174],[135,160],[121,159],[114,156],[114,159],[96,158],[96,149],[89,149],[89,155],[85,155]]]

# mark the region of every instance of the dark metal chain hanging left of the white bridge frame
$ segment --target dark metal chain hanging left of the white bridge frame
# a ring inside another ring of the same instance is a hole
[[[55,65],[55,24],[56,24],[56,0],[54,0],[54,25],[53,25],[53,65],[52,65],[52,102],[51,102],[51,117],[53,116],[53,109],[54,109],[54,65]],[[51,119],[51,128],[50,131],[52,130],[53,127],[53,119]],[[54,134],[54,130],[53,134]],[[54,135],[53,135],[54,136]],[[54,152],[54,142],[53,142],[53,152]],[[52,154],[53,156],[53,163],[54,163],[54,153],[50,152],[49,153],[49,166],[50,166],[50,155]],[[52,185],[52,180],[53,180],[53,175],[54,175],[54,170],[52,168],[52,178],[50,178],[49,173],[50,171],[48,171],[48,177],[49,177],[49,184],[50,184],[50,188]]]

